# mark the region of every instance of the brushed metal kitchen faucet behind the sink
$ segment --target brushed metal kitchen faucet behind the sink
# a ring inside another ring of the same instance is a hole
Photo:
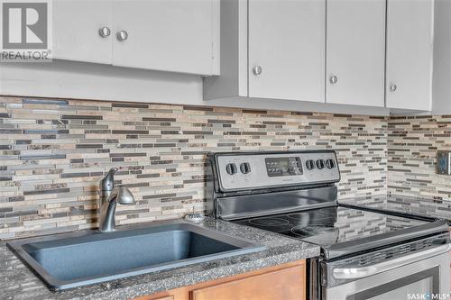
[[[115,172],[118,168],[110,168],[106,177],[100,180],[100,232],[115,231],[115,206],[133,205],[134,197],[132,192],[126,186],[115,186]]]

